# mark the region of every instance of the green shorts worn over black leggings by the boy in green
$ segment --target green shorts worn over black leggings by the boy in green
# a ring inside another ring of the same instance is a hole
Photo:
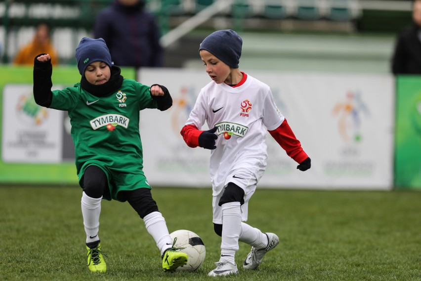
[[[86,168],[91,165],[99,167],[107,176],[109,192],[104,192],[104,195],[102,196],[103,199],[114,199],[120,202],[125,202],[126,199],[119,196],[120,191],[130,191],[138,188],[151,189],[151,186],[148,184],[148,181],[141,169],[138,169],[136,173],[127,173],[123,169],[108,167],[105,163],[100,161],[89,161],[82,166],[79,173],[79,185],[81,187],[83,187],[84,172]]]

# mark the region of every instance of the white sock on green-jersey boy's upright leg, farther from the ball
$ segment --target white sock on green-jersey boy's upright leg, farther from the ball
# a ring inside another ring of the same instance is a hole
[[[84,217],[84,229],[86,233],[86,243],[99,240],[99,215],[101,214],[101,199],[92,198],[82,192],[82,216]]]

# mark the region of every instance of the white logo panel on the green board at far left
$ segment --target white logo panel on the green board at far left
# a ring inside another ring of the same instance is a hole
[[[5,163],[59,163],[61,112],[38,106],[32,84],[3,88],[1,157]]]

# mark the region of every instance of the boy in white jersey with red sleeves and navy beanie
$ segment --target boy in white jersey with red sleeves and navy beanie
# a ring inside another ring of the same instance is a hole
[[[279,243],[276,234],[264,234],[244,223],[248,202],[266,168],[266,131],[299,163],[297,169],[311,166],[269,86],[239,70],[242,44],[233,30],[213,32],[202,42],[199,54],[212,82],[199,93],[181,130],[188,146],[211,149],[212,222],[222,239],[220,259],[209,276],[238,274],[238,241],[252,246],[244,269],[257,269],[263,256]],[[205,122],[211,130],[201,130]]]

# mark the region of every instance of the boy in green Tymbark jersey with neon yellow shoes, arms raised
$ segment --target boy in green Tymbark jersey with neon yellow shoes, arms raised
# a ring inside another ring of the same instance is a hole
[[[160,249],[163,270],[173,272],[187,263],[187,255],[173,247],[165,219],[152,198],[143,173],[139,135],[139,111],[167,110],[172,98],[164,86],[149,87],[124,79],[102,38],[83,38],[76,48],[76,59],[81,82],[51,91],[51,56],[39,54],[34,61],[34,98],[41,106],[68,111],[70,117],[76,168],[83,188],[88,268],[106,272],[98,236],[104,198],[128,201]]]

